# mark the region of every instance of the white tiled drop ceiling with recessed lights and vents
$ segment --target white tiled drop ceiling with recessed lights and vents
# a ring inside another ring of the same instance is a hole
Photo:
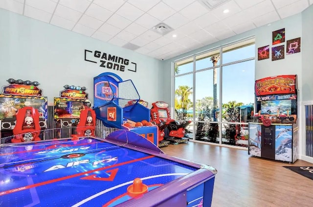
[[[0,0],[0,8],[160,60],[284,19],[311,4],[313,0]]]

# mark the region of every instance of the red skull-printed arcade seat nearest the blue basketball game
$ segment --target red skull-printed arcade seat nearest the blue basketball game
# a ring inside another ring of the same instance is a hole
[[[96,113],[92,109],[82,110],[80,113],[80,120],[77,124],[78,136],[94,136],[96,127]]]

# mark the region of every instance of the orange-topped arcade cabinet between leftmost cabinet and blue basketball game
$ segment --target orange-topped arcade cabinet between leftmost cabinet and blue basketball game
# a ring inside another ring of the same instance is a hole
[[[54,119],[59,128],[57,138],[68,138],[76,134],[81,111],[91,106],[85,87],[65,85],[64,88],[60,97],[54,98]]]

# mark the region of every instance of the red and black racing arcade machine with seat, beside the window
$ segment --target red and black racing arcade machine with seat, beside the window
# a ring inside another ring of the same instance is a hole
[[[151,120],[159,126],[159,135],[172,143],[188,142],[185,137],[185,129],[191,123],[190,120],[178,121],[171,118],[168,104],[163,101],[157,101],[152,104]]]

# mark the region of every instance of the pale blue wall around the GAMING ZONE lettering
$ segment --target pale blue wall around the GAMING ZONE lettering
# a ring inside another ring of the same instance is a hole
[[[85,49],[127,58],[137,64],[137,72],[87,62]],[[0,86],[7,85],[8,78],[38,81],[49,105],[66,84],[87,87],[93,101],[93,77],[103,72],[132,79],[140,97],[151,105],[163,93],[160,69],[161,61],[154,58],[0,9]]]

